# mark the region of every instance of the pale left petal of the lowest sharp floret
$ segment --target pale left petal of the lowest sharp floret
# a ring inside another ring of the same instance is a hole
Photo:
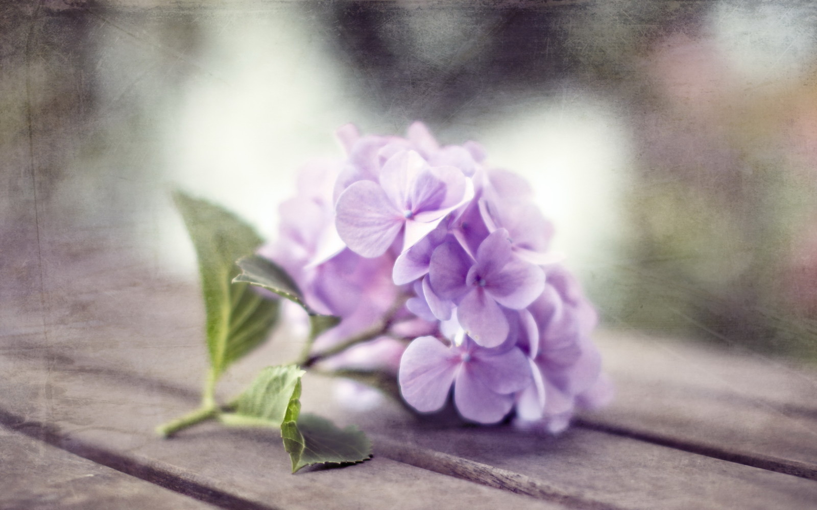
[[[460,363],[459,353],[433,336],[408,344],[400,358],[400,392],[414,409],[431,412],[445,404]]]

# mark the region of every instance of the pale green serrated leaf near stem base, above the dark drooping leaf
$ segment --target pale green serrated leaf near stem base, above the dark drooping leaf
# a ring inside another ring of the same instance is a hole
[[[301,376],[305,373],[294,365],[266,367],[236,399],[234,413],[221,415],[222,421],[279,428],[292,402],[300,406]]]

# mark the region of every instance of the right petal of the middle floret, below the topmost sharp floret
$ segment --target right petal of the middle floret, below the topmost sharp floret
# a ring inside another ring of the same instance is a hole
[[[485,290],[493,299],[513,310],[527,307],[545,290],[545,273],[542,268],[521,260],[512,260],[501,272],[485,279]]]

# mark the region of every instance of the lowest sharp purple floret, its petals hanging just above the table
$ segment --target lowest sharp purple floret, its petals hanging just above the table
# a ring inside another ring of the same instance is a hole
[[[465,338],[446,347],[432,336],[413,340],[400,360],[400,391],[421,412],[444,406],[451,385],[460,415],[480,424],[495,424],[508,414],[514,393],[531,382],[525,354],[511,346],[480,348]]]

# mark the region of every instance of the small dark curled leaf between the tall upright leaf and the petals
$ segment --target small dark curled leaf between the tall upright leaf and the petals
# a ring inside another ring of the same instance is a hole
[[[310,339],[315,339],[325,330],[337,326],[337,323],[341,321],[340,317],[321,315],[310,308],[292,277],[278,264],[258,255],[243,257],[236,264],[241,268],[241,274],[235,277],[233,282],[246,282],[261,286],[301,305],[301,308],[306,310],[310,317]]]

